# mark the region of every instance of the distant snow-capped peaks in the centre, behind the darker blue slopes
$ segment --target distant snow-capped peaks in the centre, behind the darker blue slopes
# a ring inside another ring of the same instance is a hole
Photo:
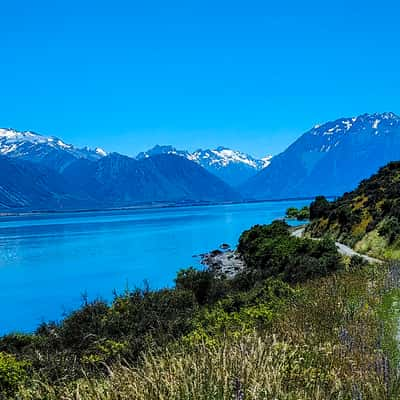
[[[190,153],[186,150],[177,150],[172,146],[155,146],[147,152],[139,153],[137,159],[153,157],[158,154],[174,154],[185,157],[201,165],[231,186],[238,186],[266,168],[271,162],[271,156],[256,159],[240,151],[226,147],[217,147],[214,150],[196,150]]]

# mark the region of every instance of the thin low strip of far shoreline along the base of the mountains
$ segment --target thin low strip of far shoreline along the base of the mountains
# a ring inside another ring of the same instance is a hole
[[[328,199],[335,198],[337,196],[326,196]],[[46,215],[46,214],[78,214],[78,213],[91,213],[91,212],[111,212],[111,211],[130,211],[130,210],[151,210],[151,209],[163,209],[163,208],[182,208],[182,207],[207,207],[207,206],[223,206],[233,204],[255,204],[255,203],[276,203],[283,201],[302,201],[302,200],[314,200],[313,197],[291,197],[283,199],[266,199],[266,200],[243,200],[243,201],[225,201],[225,202],[152,202],[152,203],[140,203],[131,206],[121,207],[109,207],[109,208],[82,208],[82,209],[50,209],[50,210],[24,210],[24,211],[4,211],[0,212],[0,219],[2,217],[23,217],[33,215]]]

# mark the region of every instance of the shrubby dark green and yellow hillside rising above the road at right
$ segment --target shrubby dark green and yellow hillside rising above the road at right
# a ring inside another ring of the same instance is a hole
[[[330,235],[378,257],[400,257],[400,162],[391,162],[357,189],[310,208],[313,236]]]

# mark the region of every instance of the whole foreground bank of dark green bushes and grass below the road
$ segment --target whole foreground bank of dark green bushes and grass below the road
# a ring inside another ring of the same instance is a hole
[[[379,319],[396,318],[385,268],[282,221],[244,232],[238,251],[247,268],[233,279],[189,268],[173,289],[84,303],[1,338],[3,398],[397,398],[397,372],[379,369],[397,357],[394,325]]]

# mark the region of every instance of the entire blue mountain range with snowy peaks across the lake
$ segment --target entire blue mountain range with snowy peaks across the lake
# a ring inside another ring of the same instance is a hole
[[[316,125],[262,159],[226,147],[189,152],[159,145],[128,157],[0,129],[0,209],[341,195],[399,159],[400,118],[391,112]]]

